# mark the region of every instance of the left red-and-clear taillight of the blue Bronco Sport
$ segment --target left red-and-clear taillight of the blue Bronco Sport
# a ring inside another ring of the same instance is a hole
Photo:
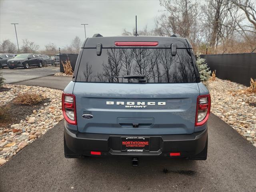
[[[76,125],[76,97],[62,93],[62,112],[68,124]]]

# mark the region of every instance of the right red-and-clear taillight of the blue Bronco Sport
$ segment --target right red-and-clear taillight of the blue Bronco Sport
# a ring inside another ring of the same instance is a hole
[[[211,108],[210,94],[200,95],[197,97],[195,126],[202,126],[207,122],[210,115],[210,108]]]

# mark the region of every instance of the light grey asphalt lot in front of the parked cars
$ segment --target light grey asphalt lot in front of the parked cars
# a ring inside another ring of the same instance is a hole
[[[45,77],[58,72],[60,72],[60,67],[33,67],[28,69],[14,68],[12,70],[8,68],[1,69],[1,73],[5,78],[6,84]]]

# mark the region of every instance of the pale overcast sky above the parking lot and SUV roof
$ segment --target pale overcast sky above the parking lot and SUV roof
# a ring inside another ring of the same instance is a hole
[[[138,18],[138,30],[144,26],[153,28],[154,17],[162,14],[164,10],[156,0],[106,0],[106,1],[0,1],[0,40],[10,39],[16,44],[14,25],[16,25],[18,41],[21,46],[22,39],[27,38],[44,48],[52,42],[57,47],[70,44],[75,36],[82,40],[84,26],[86,37],[95,33],[103,36],[116,36],[122,34],[122,29],[132,31],[135,27],[135,15]]]

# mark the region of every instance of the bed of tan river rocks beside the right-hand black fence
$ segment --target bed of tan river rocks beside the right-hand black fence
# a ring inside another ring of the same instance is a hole
[[[224,120],[256,147],[256,93],[228,80],[206,82],[211,94],[211,112]]]

